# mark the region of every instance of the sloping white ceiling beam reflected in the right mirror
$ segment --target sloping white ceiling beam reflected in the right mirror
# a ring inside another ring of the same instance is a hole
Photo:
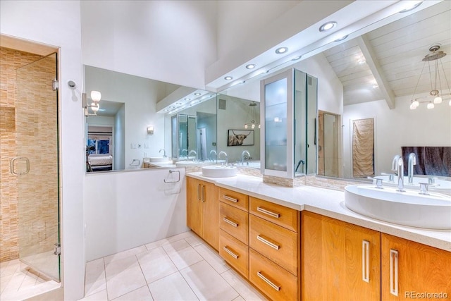
[[[395,94],[393,93],[393,90],[390,89],[390,85],[388,85],[388,81],[383,75],[382,68],[376,59],[376,54],[374,54],[369,39],[366,35],[362,35],[357,37],[357,42],[359,43],[360,50],[362,50],[362,54],[364,54],[366,64],[368,64],[374,78],[376,78],[376,82],[378,83],[383,97],[385,97],[385,102],[387,102],[390,109],[395,109]]]

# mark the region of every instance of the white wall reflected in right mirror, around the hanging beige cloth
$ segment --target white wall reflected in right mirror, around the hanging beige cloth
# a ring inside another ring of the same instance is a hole
[[[350,121],[375,118],[376,175],[390,171],[393,156],[401,154],[402,146],[451,146],[451,107],[446,102],[426,109],[425,105],[410,110],[410,97],[396,99],[396,107],[388,109],[385,100],[352,104],[343,112],[343,171],[352,177]]]

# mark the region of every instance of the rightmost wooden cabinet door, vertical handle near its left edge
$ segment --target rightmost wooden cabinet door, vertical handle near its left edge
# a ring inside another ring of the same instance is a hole
[[[382,234],[381,254],[382,300],[451,297],[451,252]]]

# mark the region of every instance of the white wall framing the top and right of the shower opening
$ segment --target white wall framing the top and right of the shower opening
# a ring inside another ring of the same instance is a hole
[[[60,47],[61,221],[63,285],[66,300],[84,293],[83,178],[85,133],[81,105],[80,1],[0,1],[0,31]],[[68,89],[68,80],[77,83]]]

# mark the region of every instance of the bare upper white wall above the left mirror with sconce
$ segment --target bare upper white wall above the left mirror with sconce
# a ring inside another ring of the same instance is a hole
[[[83,63],[204,88],[216,1],[81,1]]]

